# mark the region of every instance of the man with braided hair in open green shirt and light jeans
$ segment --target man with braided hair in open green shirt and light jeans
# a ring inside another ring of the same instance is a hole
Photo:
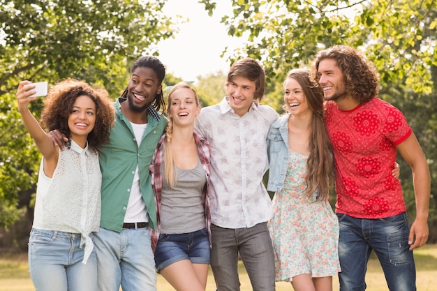
[[[156,208],[149,164],[167,125],[162,82],[165,67],[156,57],[140,57],[117,99],[110,142],[100,152],[102,211],[95,246],[98,290],[156,290],[149,227],[156,228]],[[51,132],[56,143],[61,135]],[[57,135],[57,137],[54,137]]]

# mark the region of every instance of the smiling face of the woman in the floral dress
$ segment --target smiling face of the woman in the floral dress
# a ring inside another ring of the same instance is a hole
[[[288,77],[283,84],[283,88],[285,90],[283,100],[291,115],[297,116],[308,112],[311,113],[306,102],[304,90],[295,78]]]

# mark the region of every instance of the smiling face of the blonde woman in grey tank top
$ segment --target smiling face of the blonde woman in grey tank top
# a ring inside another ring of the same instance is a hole
[[[172,91],[168,106],[168,117],[173,120],[173,126],[194,126],[200,105],[192,89],[182,87]]]

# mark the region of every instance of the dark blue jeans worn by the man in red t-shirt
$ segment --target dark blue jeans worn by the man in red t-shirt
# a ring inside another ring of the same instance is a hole
[[[406,213],[380,219],[337,214],[340,225],[339,273],[341,291],[364,291],[366,265],[375,251],[392,291],[416,290],[413,251],[408,245],[410,227]]]

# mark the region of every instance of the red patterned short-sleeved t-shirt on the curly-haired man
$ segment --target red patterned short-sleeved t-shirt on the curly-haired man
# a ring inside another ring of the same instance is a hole
[[[396,146],[412,130],[390,103],[372,98],[350,111],[325,103],[335,159],[336,213],[384,218],[406,211],[401,184],[392,177]]]

